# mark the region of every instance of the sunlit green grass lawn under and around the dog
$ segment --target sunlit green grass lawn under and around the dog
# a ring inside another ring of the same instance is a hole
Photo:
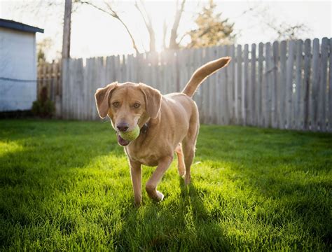
[[[332,250],[332,134],[203,125],[176,163],[137,209],[110,123],[0,120],[0,249]]]

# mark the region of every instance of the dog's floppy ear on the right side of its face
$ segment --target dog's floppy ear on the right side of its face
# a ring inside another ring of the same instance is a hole
[[[148,116],[151,118],[156,118],[161,106],[161,94],[159,90],[143,83],[139,83],[139,87],[144,94],[146,113],[148,113]]]

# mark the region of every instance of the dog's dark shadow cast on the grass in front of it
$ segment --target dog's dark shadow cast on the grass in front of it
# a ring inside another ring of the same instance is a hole
[[[127,209],[114,237],[121,251],[228,251],[230,242],[212,218],[195,183],[179,181],[179,198]]]

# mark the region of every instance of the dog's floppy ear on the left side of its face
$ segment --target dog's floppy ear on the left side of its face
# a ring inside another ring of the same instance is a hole
[[[100,118],[106,118],[109,111],[109,99],[112,91],[118,86],[118,83],[111,83],[104,88],[98,88],[95,93],[97,110]]]

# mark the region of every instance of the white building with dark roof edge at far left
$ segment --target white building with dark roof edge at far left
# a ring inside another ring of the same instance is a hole
[[[0,19],[0,111],[29,110],[37,98],[36,32]]]

